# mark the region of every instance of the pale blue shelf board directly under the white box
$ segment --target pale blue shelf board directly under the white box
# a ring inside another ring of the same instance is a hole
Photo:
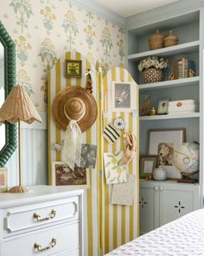
[[[200,117],[199,112],[188,113],[188,114],[175,114],[175,115],[147,115],[140,116],[139,121],[156,121],[156,120],[167,120],[167,119],[181,119],[181,118],[195,118]]]

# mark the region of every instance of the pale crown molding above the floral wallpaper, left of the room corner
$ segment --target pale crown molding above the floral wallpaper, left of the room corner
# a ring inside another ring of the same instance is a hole
[[[105,20],[108,20],[114,24],[116,24],[120,28],[125,27],[125,18],[124,16],[120,16],[112,10],[108,10],[99,3],[95,3],[92,0],[73,0],[73,3],[78,6],[95,13],[98,16],[103,17]]]

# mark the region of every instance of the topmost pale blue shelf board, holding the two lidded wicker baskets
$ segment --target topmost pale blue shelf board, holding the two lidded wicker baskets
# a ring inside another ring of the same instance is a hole
[[[133,54],[128,56],[128,60],[137,61],[146,56],[177,56],[187,54],[194,51],[199,51],[200,41],[194,41],[190,43],[182,43],[171,47],[162,49],[153,49],[144,51],[141,53]]]

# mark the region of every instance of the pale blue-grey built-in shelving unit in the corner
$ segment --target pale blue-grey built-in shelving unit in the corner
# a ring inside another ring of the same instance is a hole
[[[179,6],[174,3],[174,6]],[[204,5],[204,4],[203,4]],[[175,12],[176,10],[176,12]],[[149,20],[150,19],[150,20]],[[175,46],[162,49],[149,49],[148,39],[154,35],[156,29],[161,34],[168,35],[169,30],[179,37],[179,43]],[[140,116],[140,155],[148,154],[148,130],[152,128],[186,128],[186,141],[200,142],[200,173],[199,183],[201,190],[198,205],[203,203],[203,48],[204,48],[204,6],[197,9],[183,10],[176,7],[162,14],[158,10],[152,10],[141,16],[131,17],[127,20],[127,68],[139,85],[139,100],[143,102],[145,96],[150,95],[150,107],[158,107],[159,100],[179,101],[193,99],[195,111],[193,113],[180,113],[177,115],[147,115]],[[143,83],[143,76],[138,71],[137,65],[143,57],[163,56],[169,59],[169,68],[165,69],[163,82]],[[195,63],[194,77],[169,80],[172,71],[172,61],[175,57],[186,56]],[[165,181],[164,181],[165,182]],[[148,187],[148,186],[147,186]],[[179,187],[179,185],[178,185]],[[187,186],[188,187],[188,186]],[[145,191],[145,186],[141,188]],[[199,190],[198,189],[198,190]],[[154,205],[154,203],[153,203]],[[192,209],[193,210],[193,209]],[[145,213],[145,220],[150,216]]]

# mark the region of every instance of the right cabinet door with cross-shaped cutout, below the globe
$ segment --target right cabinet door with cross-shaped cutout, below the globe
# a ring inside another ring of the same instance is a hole
[[[199,208],[199,186],[160,182],[160,226]]]

